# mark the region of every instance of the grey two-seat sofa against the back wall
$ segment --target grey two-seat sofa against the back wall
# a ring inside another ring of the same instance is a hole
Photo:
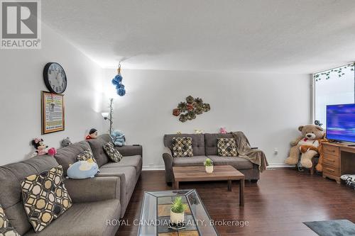
[[[173,137],[192,137],[193,157],[173,157]],[[173,167],[203,166],[204,160],[212,159],[214,165],[231,165],[246,176],[252,182],[260,179],[258,165],[241,157],[219,157],[217,154],[217,139],[219,137],[233,137],[230,133],[205,133],[205,134],[173,134],[164,135],[163,160],[165,163],[165,181],[168,184],[173,182]]]

